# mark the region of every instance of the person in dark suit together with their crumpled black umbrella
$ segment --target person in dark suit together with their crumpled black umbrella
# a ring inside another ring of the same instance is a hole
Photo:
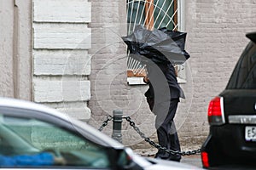
[[[183,64],[189,59],[184,50],[186,33],[169,31],[166,28],[149,31],[137,26],[127,37],[122,37],[128,45],[131,57],[147,65],[148,75],[144,82],[149,88],[145,93],[150,110],[156,115],[155,128],[160,146],[180,151],[179,139],[173,119],[179,98],[184,98],[183,90],[177,83],[174,64]],[[180,161],[180,155],[158,150],[155,158]]]

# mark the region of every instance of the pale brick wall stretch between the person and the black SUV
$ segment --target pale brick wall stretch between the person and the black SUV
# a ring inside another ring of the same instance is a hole
[[[188,32],[189,114],[178,133],[183,145],[201,144],[208,134],[207,106],[224,90],[236,61],[248,42],[245,34],[256,30],[256,2],[185,1]]]

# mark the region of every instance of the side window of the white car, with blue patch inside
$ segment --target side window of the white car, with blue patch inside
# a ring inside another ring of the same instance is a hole
[[[108,168],[108,157],[105,147],[85,139],[79,133],[36,119],[0,118],[1,167]]]

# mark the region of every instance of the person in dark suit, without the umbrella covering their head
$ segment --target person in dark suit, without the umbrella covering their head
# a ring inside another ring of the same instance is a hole
[[[151,63],[147,65],[149,88],[145,93],[150,110],[156,115],[155,128],[159,144],[168,150],[180,151],[177,130],[173,121],[179,98],[183,90],[177,83],[175,69],[170,62]],[[156,158],[180,161],[181,156],[172,155],[165,150],[159,150]]]

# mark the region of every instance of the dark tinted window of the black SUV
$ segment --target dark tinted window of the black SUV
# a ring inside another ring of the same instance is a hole
[[[230,77],[227,89],[256,89],[256,44],[249,42]]]

